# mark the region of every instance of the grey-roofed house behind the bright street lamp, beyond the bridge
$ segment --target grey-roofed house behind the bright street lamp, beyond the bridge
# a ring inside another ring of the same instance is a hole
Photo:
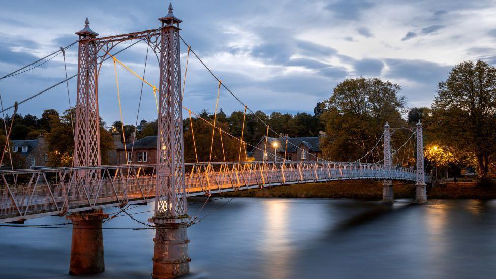
[[[321,136],[324,134],[321,133]],[[281,138],[262,137],[253,148],[252,153],[255,161],[316,161],[322,158],[320,149],[320,137],[291,138],[285,135]],[[265,143],[267,142],[267,147]],[[265,153],[264,153],[265,150]]]

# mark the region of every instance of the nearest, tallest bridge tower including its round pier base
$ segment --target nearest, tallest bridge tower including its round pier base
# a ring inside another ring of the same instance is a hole
[[[157,131],[157,185],[153,278],[177,277],[189,272],[184,181],[184,140],[182,126],[181,61],[179,23],[172,5],[159,18],[160,42],[159,116]]]

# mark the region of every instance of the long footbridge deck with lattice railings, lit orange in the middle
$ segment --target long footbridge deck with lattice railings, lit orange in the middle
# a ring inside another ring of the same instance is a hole
[[[187,196],[334,180],[416,179],[409,168],[346,162],[189,163],[185,169]],[[143,203],[155,195],[151,164],[3,171],[0,176],[0,223]]]

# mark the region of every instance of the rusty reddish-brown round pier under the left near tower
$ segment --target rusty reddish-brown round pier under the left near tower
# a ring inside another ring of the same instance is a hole
[[[105,271],[102,220],[107,217],[102,209],[76,212],[66,216],[72,221],[69,274],[88,275]]]

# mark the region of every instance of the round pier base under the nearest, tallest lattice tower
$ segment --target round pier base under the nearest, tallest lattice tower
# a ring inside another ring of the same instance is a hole
[[[186,235],[188,220],[153,217],[155,223],[155,249],[153,253],[153,273],[155,279],[176,278],[190,272],[188,243]]]

